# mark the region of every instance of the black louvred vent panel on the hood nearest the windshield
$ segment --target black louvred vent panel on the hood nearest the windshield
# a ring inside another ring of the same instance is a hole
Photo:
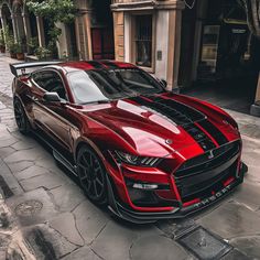
[[[149,101],[147,98],[151,101]],[[153,109],[154,111],[158,111],[178,126],[188,124],[206,118],[206,116],[202,112],[172,99],[156,96],[144,96],[144,98],[139,96],[131,98],[131,100],[138,102],[141,106],[145,106]]]

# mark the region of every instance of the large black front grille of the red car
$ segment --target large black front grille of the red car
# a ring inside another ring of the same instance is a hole
[[[213,159],[205,153],[184,163],[174,178],[183,202],[212,195],[223,188],[223,181],[235,176],[240,141],[215,149]]]

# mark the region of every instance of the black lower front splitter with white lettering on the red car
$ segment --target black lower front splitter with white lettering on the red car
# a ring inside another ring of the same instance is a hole
[[[174,207],[171,212],[136,212],[126,206],[123,206],[120,202],[118,202],[113,195],[112,186],[110,181],[108,180],[108,189],[109,189],[109,209],[117,215],[118,217],[126,219],[136,224],[145,224],[145,223],[154,223],[159,219],[169,219],[169,218],[183,218],[191,214],[195,214],[203,208],[213,205],[225,196],[230,194],[230,192],[237,187],[243,181],[243,175],[247,172],[246,164],[242,163],[242,166],[237,174],[236,177],[230,184],[218,191],[216,194],[213,194],[208,197],[203,198],[202,201],[191,204],[188,206],[181,205],[180,207]]]

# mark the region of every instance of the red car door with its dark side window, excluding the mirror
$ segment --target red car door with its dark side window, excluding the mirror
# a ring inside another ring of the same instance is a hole
[[[62,76],[54,69],[43,69],[32,75],[32,83],[35,123],[58,145],[71,151],[71,122],[66,119],[69,100]],[[45,101],[46,91],[57,93],[63,102]]]

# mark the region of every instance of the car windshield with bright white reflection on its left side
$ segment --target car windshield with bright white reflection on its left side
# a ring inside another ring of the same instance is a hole
[[[139,68],[77,71],[68,74],[68,82],[77,104],[163,91],[160,83]]]

